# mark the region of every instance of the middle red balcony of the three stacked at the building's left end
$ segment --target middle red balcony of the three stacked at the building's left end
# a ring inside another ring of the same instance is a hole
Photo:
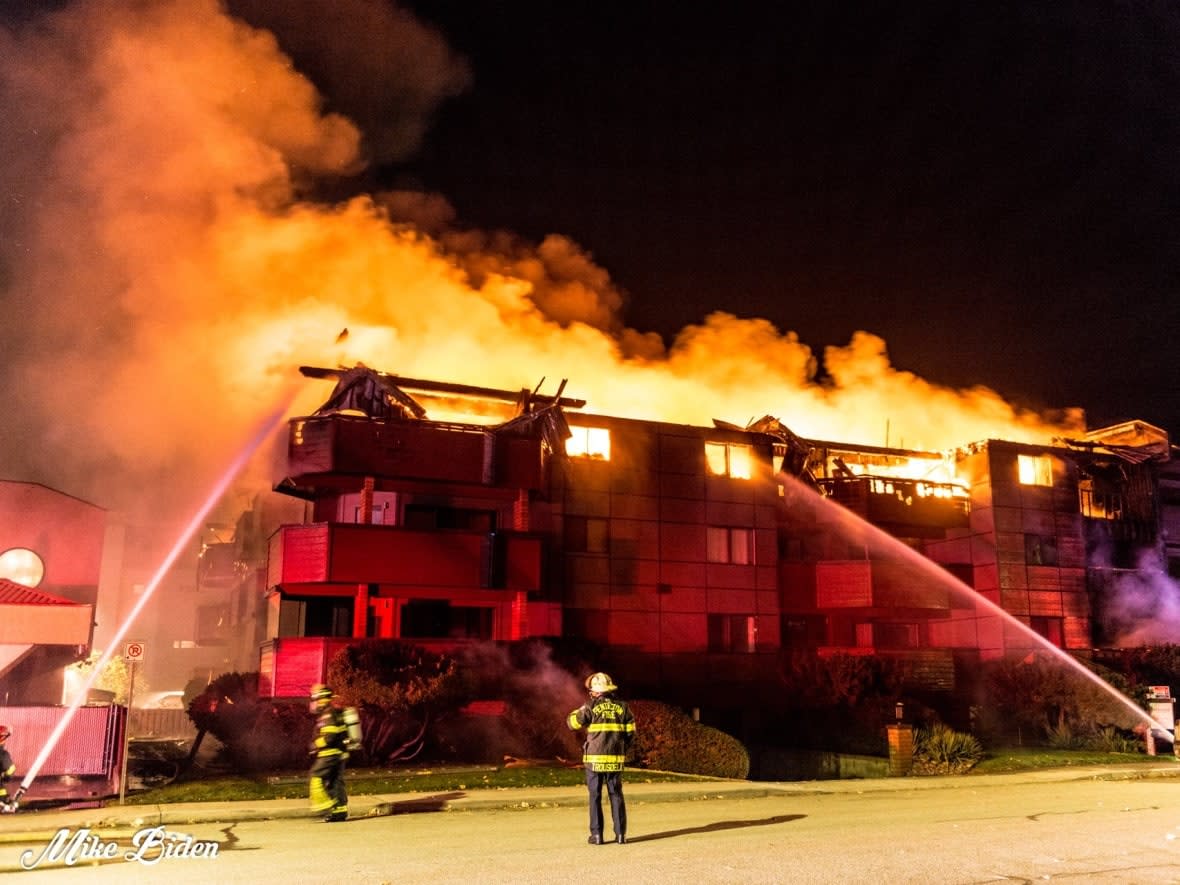
[[[354,523],[288,525],[270,538],[267,585],[540,588],[540,538]]]

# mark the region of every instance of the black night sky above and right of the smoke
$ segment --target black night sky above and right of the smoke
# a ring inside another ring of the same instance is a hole
[[[1180,435],[1176,6],[409,6],[472,81],[382,183],[572,237],[628,324],[866,329],[927,380]]]

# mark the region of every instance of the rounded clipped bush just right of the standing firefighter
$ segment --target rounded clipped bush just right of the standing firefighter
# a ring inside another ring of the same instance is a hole
[[[643,767],[713,778],[749,775],[749,753],[736,738],[658,701],[629,706],[636,734],[630,756]]]

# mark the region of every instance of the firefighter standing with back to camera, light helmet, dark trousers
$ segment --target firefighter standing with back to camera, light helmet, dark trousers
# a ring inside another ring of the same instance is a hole
[[[623,801],[623,763],[635,740],[635,717],[627,704],[615,697],[618,687],[605,673],[586,680],[590,700],[573,710],[569,726],[586,729],[582,762],[590,792],[590,844],[602,845],[602,788],[610,799],[610,821],[615,841],[627,841],[627,804]]]

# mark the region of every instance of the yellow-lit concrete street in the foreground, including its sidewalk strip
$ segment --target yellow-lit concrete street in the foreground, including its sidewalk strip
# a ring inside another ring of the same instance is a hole
[[[577,788],[358,796],[346,824],[310,819],[302,800],[21,812],[0,819],[0,872],[31,885],[1180,883],[1178,776],[1180,763],[1165,760],[959,778],[632,781],[629,844],[602,846],[586,845]],[[157,825],[216,856],[126,859],[133,834]],[[118,853],[21,870],[61,828],[88,828]]]

